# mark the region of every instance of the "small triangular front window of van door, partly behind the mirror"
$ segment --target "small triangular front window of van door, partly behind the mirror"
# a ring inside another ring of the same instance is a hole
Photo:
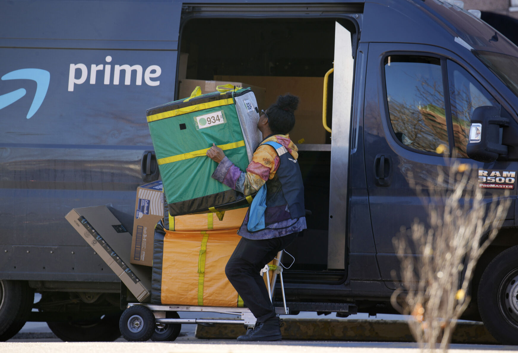
[[[450,60],[447,67],[455,148],[458,157],[468,158],[466,146],[473,110],[483,105],[498,107],[499,104],[464,68]]]

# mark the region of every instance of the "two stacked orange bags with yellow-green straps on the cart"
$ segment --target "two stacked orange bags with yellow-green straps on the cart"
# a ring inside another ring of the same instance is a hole
[[[155,229],[151,302],[242,306],[225,265],[239,242],[237,230],[246,212],[239,208],[174,217],[166,204],[164,222]]]

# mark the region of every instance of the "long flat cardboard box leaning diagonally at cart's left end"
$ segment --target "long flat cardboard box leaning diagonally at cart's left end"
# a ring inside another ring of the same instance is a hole
[[[150,269],[130,264],[131,234],[106,206],[74,208],[65,218],[139,302],[149,298]]]

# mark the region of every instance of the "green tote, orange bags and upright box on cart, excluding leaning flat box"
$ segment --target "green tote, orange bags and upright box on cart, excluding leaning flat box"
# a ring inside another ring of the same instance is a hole
[[[199,86],[214,91],[218,83],[227,82],[202,83],[184,80],[180,92],[192,90],[189,98],[147,112],[163,179],[164,210],[153,211],[160,200],[153,194],[158,182],[139,188],[132,261],[150,265],[151,224],[163,215],[154,228],[151,303],[240,307],[243,302],[226,278],[225,265],[239,243],[237,231],[251,197],[211,178],[217,163],[205,153],[212,142],[226,146],[226,156],[245,170],[261,142],[256,127],[260,110],[249,88],[235,87],[247,87],[240,82],[206,94]],[[264,96],[264,89],[255,91]]]

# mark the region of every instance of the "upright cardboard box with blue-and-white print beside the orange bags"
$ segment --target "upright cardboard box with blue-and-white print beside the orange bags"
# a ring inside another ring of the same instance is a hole
[[[155,225],[164,217],[162,180],[137,188],[130,263],[153,266]]]

